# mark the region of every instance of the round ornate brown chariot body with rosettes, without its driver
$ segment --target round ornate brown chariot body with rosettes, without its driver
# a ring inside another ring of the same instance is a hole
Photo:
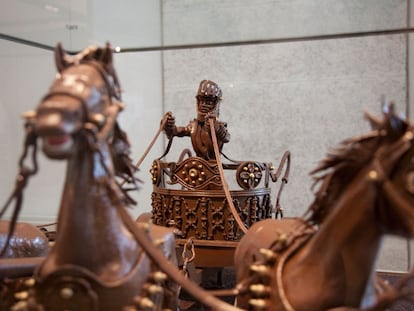
[[[239,186],[229,191],[234,209],[223,189],[226,181],[221,180],[220,170],[232,173]],[[155,160],[151,169],[153,222],[174,227],[178,245],[193,238],[197,266],[232,266],[233,251],[245,228],[282,212],[278,202],[276,206],[272,203],[269,182],[273,171],[272,163],[254,161],[220,167],[217,161],[200,157]]]

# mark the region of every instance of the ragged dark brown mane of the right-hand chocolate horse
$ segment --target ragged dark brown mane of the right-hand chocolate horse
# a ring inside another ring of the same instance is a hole
[[[304,216],[308,222],[321,224],[335,206],[340,193],[359,170],[372,160],[379,146],[398,139],[408,128],[407,122],[395,114],[393,103],[384,107],[383,120],[368,113],[365,113],[365,118],[373,131],[347,139],[329,150],[326,157],[310,172],[314,180],[312,189],[317,185],[319,188]]]

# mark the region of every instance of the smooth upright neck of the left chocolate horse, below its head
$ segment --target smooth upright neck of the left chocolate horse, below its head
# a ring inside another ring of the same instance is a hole
[[[53,256],[58,264],[102,272],[108,263],[129,260],[136,243],[118,214],[121,202],[113,198],[111,188],[116,185],[108,146],[100,147],[99,154],[79,144],[68,161]]]

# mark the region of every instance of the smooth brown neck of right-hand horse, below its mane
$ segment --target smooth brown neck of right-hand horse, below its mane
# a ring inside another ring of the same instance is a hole
[[[375,215],[377,189],[367,180],[368,171],[354,178],[314,238],[289,263],[303,268],[296,271],[300,277],[316,274],[321,286],[341,286],[341,299],[351,303],[364,294],[382,238]]]

